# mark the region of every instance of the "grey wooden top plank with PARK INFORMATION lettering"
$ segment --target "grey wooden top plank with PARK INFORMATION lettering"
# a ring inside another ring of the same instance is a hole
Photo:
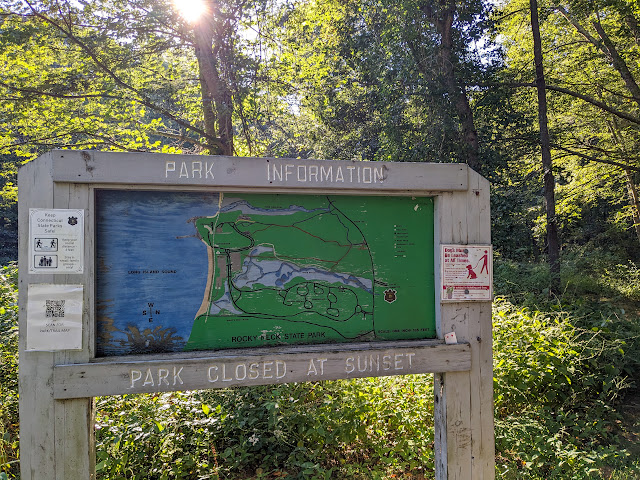
[[[56,182],[212,186],[254,191],[313,190],[404,195],[463,191],[462,164],[293,160],[56,150]]]

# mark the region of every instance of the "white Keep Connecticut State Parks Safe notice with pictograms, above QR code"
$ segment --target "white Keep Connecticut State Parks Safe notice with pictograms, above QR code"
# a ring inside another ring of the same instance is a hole
[[[29,273],[82,273],[84,210],[29,209]]]

